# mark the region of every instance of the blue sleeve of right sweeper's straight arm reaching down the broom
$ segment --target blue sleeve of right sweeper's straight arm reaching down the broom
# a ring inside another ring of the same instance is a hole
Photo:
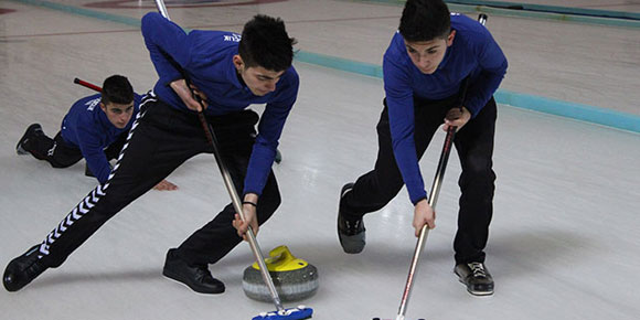
[[[427,192],[418,166],[414,140],[413,89],[405,68],[392,60],[385,56],[383,73],[393,152],[403,181],[407,185],[409,199],[412,203],[416,204],[427,198]]]

